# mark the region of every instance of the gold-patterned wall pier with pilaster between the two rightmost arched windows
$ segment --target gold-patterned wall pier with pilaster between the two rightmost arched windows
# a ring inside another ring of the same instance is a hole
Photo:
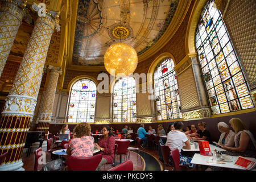
[[[174,69],[183,119],[209,118],[211,112],[196,55],[185,56]]]

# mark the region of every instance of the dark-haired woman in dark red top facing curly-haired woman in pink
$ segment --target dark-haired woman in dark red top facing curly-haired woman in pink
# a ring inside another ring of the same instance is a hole
[[[99,171],[104,164],[111,164],[114,160],[115,138],[110,131],[109,126],[104,126],[102,129],[102,137],[98,143],[95,143],[96,147],[101,150],[102,159],[96,171]]]

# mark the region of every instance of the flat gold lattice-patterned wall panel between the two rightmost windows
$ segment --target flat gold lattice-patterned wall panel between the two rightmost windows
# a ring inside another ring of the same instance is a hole
[[[198,107],[199,99],[191,65],[177,75],[177,84],[180,92],[181,111]]]

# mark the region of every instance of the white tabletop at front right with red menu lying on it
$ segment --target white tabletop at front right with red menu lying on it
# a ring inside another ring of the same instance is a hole
[[[240,166],[237,166],[236,164],[234,164],[236,162],[236,160],[238,159],[238,156],[232,156],[232,162],[223,162],[222,164],[222,160],[221,159],[216,159],[217,162],[221,161],[221,163],[212,163],[209,162],[209,159],[212,156],[205,156],[205,155],[201,155],[201,154],[195,154],[191,160],[192,164],[199,164],[199,165],[203,165],[203,166],[215,166],[215,167],[223,167],[223,168],[232,168],[232,169],[240,169],[240,170],[246,170],[245,168],[242,168]],[[256,160],[255,158],[247,158],[247,159],[251,159],[251,160]],[[256,169],[254,168],[253,171],[255,171]]]

